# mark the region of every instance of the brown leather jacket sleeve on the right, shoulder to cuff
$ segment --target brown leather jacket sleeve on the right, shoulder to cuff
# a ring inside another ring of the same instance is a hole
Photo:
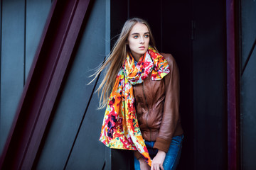
[[[165,101],[164,113],[161,121],[159,135],[156,137],[154,148],[168,152],[171,139],[176,130],[179,119],[179,73],[178,67],[170,54],[164,55],[169,62],[170,72],[164,77]]]

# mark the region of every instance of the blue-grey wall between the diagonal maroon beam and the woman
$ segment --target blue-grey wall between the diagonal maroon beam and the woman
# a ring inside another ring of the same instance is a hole
[[[97,0],[88,8],[91,8],[91,12],[87,11],[88,20],[85,24],[85,30],[80,44],[78,44],[78,51],[70,67],[67,80],[63,85],[63,93],[59,97],[60,101],[55,106],[54,118],[49,126],[41,155],[38,157],[36,169],[63,169],[68,155],[72,152],[74,142],[75,147],[67,169],[70,169],[70,165],[73,166],[73,169],[82,169],[82,167],[86,169],[85,163],[91,166],[95,164],[97,159],[92,160],[95,156],[100,157],[101,160],[97,164],[99,166],[103,164],[105,147],[98,141],[103,113],[96,111],[97,94],[94,94],[80,129],[78,140],[75,141],[95,84],[93,82],[87,85],[90,81],[88,77],[94,72],[92,69],[95,69],[103,61],[107,48],[106,42],[109,43],[108,38],[106,38],[106,31],[110,32],[110,30],[105,30],[106,2]],[[109,35],[109,33],[107,34]],[[87,134],[88,132],[90,134]],[[90,137],[86,135],[90,135]],[[100,155],[90,155],[93,149],[95,149],[95,153]],[[87,159],[88,156],[91,159]],[[74,157],[78,157],[78,159],[74,161]]]

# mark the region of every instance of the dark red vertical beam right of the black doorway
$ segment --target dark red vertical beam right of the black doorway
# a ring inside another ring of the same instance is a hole
[[[238,169],[238,74],[235,54],[235,0],[226,1],[228,169]]]

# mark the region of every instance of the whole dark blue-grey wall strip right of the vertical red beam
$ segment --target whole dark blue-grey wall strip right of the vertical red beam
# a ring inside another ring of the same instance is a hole
[[[256,1],[241,2],[240,33],[241,33],[241,58],[240,64],[244,72],[240,77],[240,146],[241,146],[241,169],[256,169]],[[252,54],[250,55],[250,52]],[[249,56],[250,55],[250,56]],[[245,67],[245,61],[247,65]]]

